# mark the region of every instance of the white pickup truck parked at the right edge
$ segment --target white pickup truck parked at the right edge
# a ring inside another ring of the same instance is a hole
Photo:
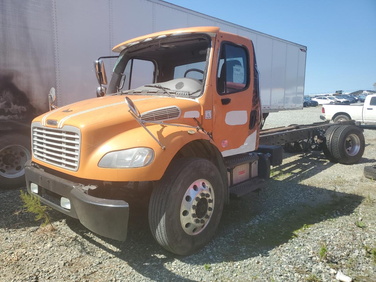
[[[321,112],[321,120],[332,120],[335,123],[355,120],[376,125],[376,94],[368,95],[364,103],[323,105]]]

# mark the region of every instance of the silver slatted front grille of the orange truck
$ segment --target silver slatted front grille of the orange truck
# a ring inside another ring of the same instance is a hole
[[[62,129],[32,124],[32,152],[36,159],[57,167],[76,171],[80,160],[80,130],[73,126]]]

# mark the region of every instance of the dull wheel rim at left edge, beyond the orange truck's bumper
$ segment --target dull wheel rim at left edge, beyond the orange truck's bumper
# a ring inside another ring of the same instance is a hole
[[[0,150],[0,176],[17,178],[25,174],[25,163],[31,159],[29,150],[11,145]]]

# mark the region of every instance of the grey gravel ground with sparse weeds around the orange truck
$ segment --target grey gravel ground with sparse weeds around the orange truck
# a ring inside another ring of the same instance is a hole
[[[321,107],[270,114],[265,128],[320,121]],[[0,191],[1,281],[354,281],[376,280],[376,127],[363,126],[358,164],[320,152],[285,154],[265,188],[226,206],[213,240],[178,256],[150,234],[147,211],[131,206],[125,242],[99,237],[50,212],[55,233],[20,211],[19,190]],[[321,254],[321,255],[320,255]]]

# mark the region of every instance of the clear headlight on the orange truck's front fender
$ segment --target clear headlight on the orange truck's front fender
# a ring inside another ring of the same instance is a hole
[[[110,152],[103,156],[98,166],[103,168],[145,167],[154,159],[154,151],[150,148],[133,148]]]

